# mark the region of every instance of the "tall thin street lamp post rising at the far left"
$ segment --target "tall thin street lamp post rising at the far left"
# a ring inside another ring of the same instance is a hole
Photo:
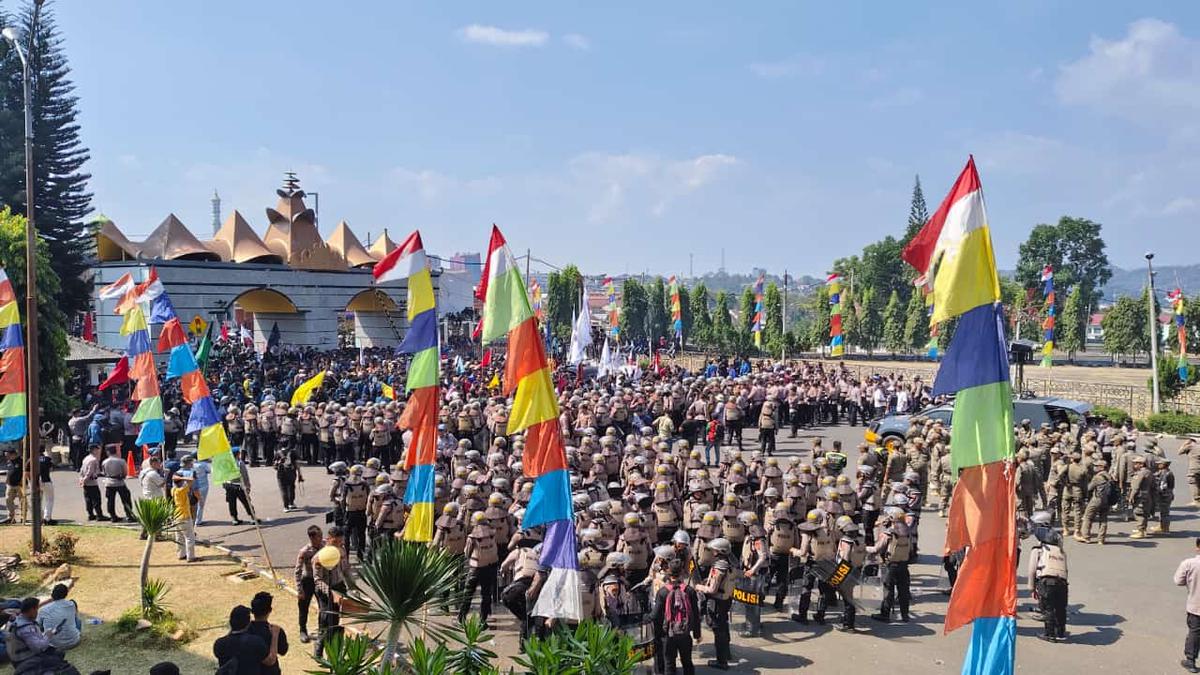
[[[37,14],[42,0],[34,2],[29,43],[37,34]],[[8,26],[0,31],[20,59],[22,88],[25,96],[25,474],[29,476],[29,510],[32,512],[32,549],[42,550],[42,485],[38,458],[42,452],[42,425],[37,404],[37,228],[34,225],[34,110],[29,91],[29,59],[17,41],[17,31]]]

